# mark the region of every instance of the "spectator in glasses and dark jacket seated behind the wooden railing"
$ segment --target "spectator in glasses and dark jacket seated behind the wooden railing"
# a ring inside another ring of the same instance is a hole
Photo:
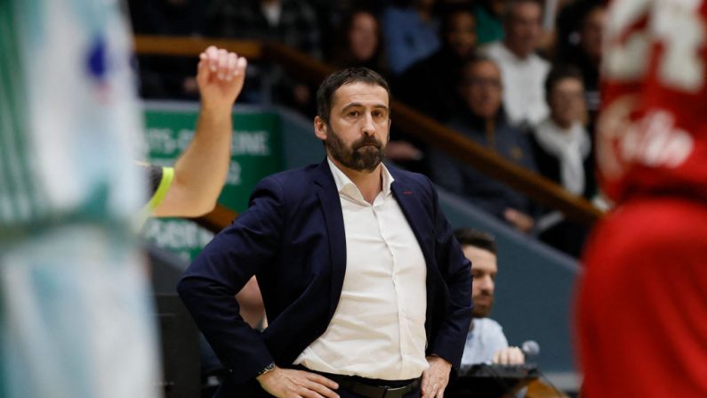
[[[452,118],[447,126],[471,141],[494,150],[520,167],[536,169],[526,134],[510,126],[502,110],[501,69],[495,61],[478,57],[463,68],[462,97],[467,109]],[[529,232],[534,225],[534,205],[522,194],[498,183],[460,160],[438,150],[430,151],[430,175],[452,191],[488,213]]]

